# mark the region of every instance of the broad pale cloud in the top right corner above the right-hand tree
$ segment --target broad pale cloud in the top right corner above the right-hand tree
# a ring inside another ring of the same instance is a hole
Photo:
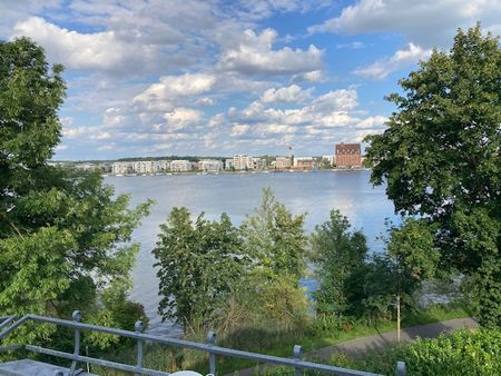
[[[356,34],[402,32],[425,48],[450,46],[459,27],[482,21],[484,28],[501,24],[499,0],[361,0],[340,17],[313,26],[310,32]]]

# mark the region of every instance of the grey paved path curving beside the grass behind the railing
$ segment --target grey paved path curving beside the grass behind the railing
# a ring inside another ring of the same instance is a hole
[[[401,342],[411,343],[416,337],[435,338],[441,333],[452,332],[459,328],[477,328],[478,323],[472,318],[458,318],[441,323],[412,326],[401,330]],[[315,362],[328,362],[334,353],[360,354],[370,349],[381,349],[391,343],[396,342],[396,330],[380,333],[369,337],[351,339],[337,345],[327,346],[304,355],[304,358],[315,359]],[[264,366],[259,366],[262,369]],[[269,366],[272,367],[272,366]],[[250,376],[255,373],[256,367],[240,369],[232,375]]]

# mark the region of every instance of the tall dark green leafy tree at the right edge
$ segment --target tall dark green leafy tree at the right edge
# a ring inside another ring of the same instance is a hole
[[[473,276],[482,325],[501,325],[501,49],[478,24],[400,81],[366,141],[371,180],[395,210],[434,227],[439,269]],[[422,225],[423,225],[422,224]]]

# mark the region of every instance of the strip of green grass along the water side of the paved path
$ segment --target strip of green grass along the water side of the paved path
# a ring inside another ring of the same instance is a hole
[[[459,305],[435,305],[421,311],[405,315],[402,327],[411,327],[438,323],[454,318],[469,317],[471,313]],[[312,330],[291,330],[279,333],[273,329],[245,329],[235,334],[229,342],[220,342],[218,345],[238,348],[247,352],[262,353],[267,355],[289,357],[293,346],[301,344],[303,353],[340,344],[350,339],[371,336],[379,333],[395,330],[395,321],[380,321],[370,325],[364,321],[354,323],[353,327],[345,330],[324,332],[315,334]],[[184,356],[183,356],[184,355]],[[136,350],[125,349],[119,354],[111,354],[106,357],[109,360],[135,364]],[[183,360],[183,358],[188,359]],[[145,346],[144,365],[153,369],[173,372],[179,368],[195,369],[202,374],[208,373],[208,360],[205,354],[194,350],[179,352],[163,345],[149,344]],[[219,375],[230,374],[235,370],[255,367],[257,364],[247,359],[217,357],[217,372]],[[91,372],[104,376],[127,375],[101,367],[92,367]]]

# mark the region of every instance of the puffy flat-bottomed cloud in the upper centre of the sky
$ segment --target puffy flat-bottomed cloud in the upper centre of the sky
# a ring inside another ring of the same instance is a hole
[[[277,33],[273,29],[255,33],[246,30],[240,38],[223,46],[218,66],[222,70],[245,75],[291,75],[318,70],[323,51],[311,44],[307,50],[284,47],[273,49]]]

